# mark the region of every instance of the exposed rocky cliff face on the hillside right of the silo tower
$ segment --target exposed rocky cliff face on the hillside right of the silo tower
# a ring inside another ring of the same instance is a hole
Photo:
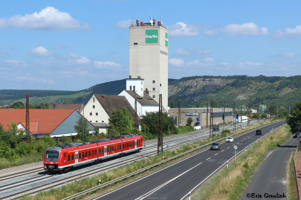
[[[234,79],[220,79],[220,78],[209,78],[209,79],[193,79],[180,82],[176,85],[168,86],[168,97],[173,95],[194,95],[194,94],[205,94],[207,91],[212,89],[218,89],[227,83],[232,83]]]

